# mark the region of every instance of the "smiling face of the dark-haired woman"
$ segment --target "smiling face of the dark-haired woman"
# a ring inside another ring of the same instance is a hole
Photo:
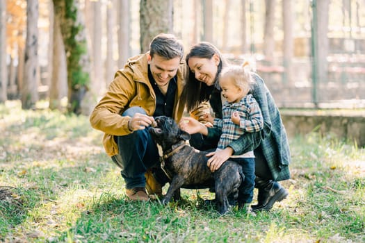
[[[188,60],[188,65],[190,71],[195,74],[195,78],[198,81],[211,86],[216,80],[219,61],[219,56],[216,54],[214,54],[210,59],[192,56]]]

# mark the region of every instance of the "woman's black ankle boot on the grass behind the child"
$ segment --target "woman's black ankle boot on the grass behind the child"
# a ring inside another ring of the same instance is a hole
[[[288,191],[276,181],[256,176],[255,187],[259,189],[257,205],[252,205],[254,211],[270,210],[277,201],[282,201],[288,196]]]

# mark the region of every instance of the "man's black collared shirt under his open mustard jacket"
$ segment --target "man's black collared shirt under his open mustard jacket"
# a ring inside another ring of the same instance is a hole
[[[159,89],[154,77],[152,76],[151,69],[148,65],[148,79],[154,88],[154,93],[156,94],[156,110],[154,111],[154,117],[160,115],[165,115],[166,117],[172,117],[172,112],[174,111],[175,94],[177,90],[177,76],[171,78],[168,84],[168,92],[165,95]]]

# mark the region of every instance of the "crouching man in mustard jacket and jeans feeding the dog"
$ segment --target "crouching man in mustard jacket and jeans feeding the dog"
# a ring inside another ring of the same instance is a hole
[[[148,126],[160,115],[176,121],[183,115],[184,104],[179,102],[186,76],[183,55],[183,46],[174,35],[157,35],[147,53],[130,58],[117,71],[90,115],[91,126],[105,133],[104,149],[122,169],[131,200],[148,201],[145,188],[149,194],[161,196],[161,184],[166,183]],[[152,169],[157,171],[159,183]]]

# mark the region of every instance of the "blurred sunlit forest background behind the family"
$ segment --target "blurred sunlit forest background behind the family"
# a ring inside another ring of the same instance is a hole
[[[1,1],[0,101],[89,114],[157,33],[250,60],[279,107],[364,107],[364,0]],[[345,91],[345,92],[344,92]],[[82,102],[83,101],[83,102]]]

